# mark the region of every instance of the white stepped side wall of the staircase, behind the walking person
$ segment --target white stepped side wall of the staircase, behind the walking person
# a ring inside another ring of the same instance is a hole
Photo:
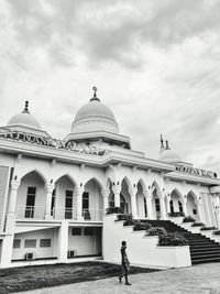
[[[157,247],[157,237],[144,237],[144,231],[134,232],[114,221],[116,215],[103,218],[103,259],[121,262],[121,242],[127,241],[128,257],[133,264],[182,268],[190,266],[189,247]]]

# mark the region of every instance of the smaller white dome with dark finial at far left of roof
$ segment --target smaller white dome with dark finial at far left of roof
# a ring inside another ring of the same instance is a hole
[[[29,101],[25,102],[24,110],[21,113],[13,116],[9,120],[7,126],[8,127],[21,126],[21,127],[32,128],[32,129],[37,129],[37,130],[41,129],[41,126],[40,126],[38,121],[35,119],[34,116],[32,116],[29,112]]]

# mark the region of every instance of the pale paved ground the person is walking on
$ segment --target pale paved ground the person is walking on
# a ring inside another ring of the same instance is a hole
[[[191,268],[135,274],[130,276],[131,286],[119,284],[117,277],[84,282],[51,288],[29,291],[30,294],[220,294],[220,263]],[[21,292],[20,292],[21,294]]]

